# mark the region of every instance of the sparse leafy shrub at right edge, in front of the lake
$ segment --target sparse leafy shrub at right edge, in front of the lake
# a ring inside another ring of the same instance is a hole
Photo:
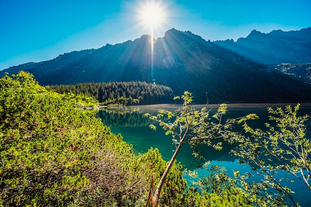
[[[250,137],[231,139],[238,144],[233,153],[242,158],[239,162],[251,165],[263,176],[262,182],[249,183],[251,173],[235,172],[240,185],[258,206],[287,206],[287,202],[299,206],[292,197],[294,192],[287,187],[288,182],[302,182],[311,193],[311,140],[306,137],[305,126],[309,116],[298,116],[299,106],[286,106],[285,110],[268,108],[274,123],[266,123],[266,131],[253,129],[245,122],[244,130]],[[282,177],[278,176],[280,173]]]

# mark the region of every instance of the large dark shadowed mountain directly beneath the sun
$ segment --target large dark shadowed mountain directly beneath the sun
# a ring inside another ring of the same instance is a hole
[[[28,65],[43,85],[139,80],[169,86],[175,95],[193,92],[196,103],[206,103],[206,95],[210,103],[311,101],[309,85],[175,29],[154,40],[153,54],[151,37],[143,35]]]

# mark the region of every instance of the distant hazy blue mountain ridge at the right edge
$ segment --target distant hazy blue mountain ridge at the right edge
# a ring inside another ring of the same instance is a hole
[[[300,31],[253,30],[246,38],[215,41],[215,44],[262,64],[311,63],[311,27]]]

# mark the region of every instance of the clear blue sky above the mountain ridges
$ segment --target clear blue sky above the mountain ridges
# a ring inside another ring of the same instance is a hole
[[[60,54],[135,40],[151,29],[139,10],[151,0],[0,0],[0,70]],[[311,26],[311,0],[156,0],[165,14],[154,28],[171,28],[205,40],[236,41]]]

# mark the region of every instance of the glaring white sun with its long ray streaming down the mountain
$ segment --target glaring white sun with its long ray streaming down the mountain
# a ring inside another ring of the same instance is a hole
[[[154,47],[164,44],[162,47],[165,48],[165,43],[160,37],[163,37],[163,34],[172,28],[169,25],[178,16],[179,7],[174,4],[173,0],[129,0],[125,2],[128,11],[126,15],[127,20],[132,20],[134,23],[130,30],[140,31],[142,35],[150,35],[150,39],[148,38],[148,43],[150,44],[148,47],[150,49],[147,54],[151,54],[151,56],[146,56],[150,59],[146,62],[149,66],[145,70],[149,70],[150,80],[148,81],[156,84],[154,60],[157,60],[159,57],[155,55],[154,49],[156,50],[156,48]],[[160,38],[159,44],[156,44],[157,38]],[[164,68],[169,68],[172,65],[172,58],[163,58],[162,62]]]

